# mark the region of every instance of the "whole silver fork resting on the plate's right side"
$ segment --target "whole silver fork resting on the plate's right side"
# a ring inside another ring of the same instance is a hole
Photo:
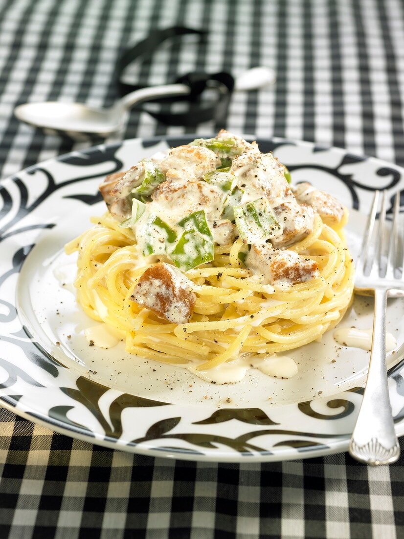
[[[355,293],[374,295],[374,314],[366,387],[349,444],[349,452],[353,458],[372,466],[390,464],[400,457],[400,446],[394,430],[392,407],[388,396],[386,365],[387,298],[404,296],[404,266],[401,278],[395,277],[395,270],[398,272],[396,262],[400,243],[400,193],[395,197],[390,237],[386,226],[386,191],[383,191],[377,226],[379,198],[380,191],[376,191],[367,220],[362,250],[356,264]],[[372,260],[371,244],[375,229],[378,243],[375,252],[373,251],[375,256]],[[404,254],[402,246],[400,251]]]

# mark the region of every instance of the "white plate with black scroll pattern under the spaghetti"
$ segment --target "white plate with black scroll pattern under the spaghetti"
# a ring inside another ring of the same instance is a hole
[[[200,135],[199,135],[200,136]],[[247,137],[250,138],[251,137]],[[89,347],[94,325],[77,307],[74,257],[63,245],[89,227],[104,205],[97,186],[112,172],[194,139],[127,140],[53,158],[3,182],[0,233],[0,402],[32,421],[112,448],[190,460],[247,462],[345,451],[363,395],[369,354],[322,342],[291,351],[299,373],[270,378],[250,370],[242,382],[209,384],[185,369]],[[283,139],[258,140],[292,172],[353,208],[348,227],[357,250],[376,188],[389,199],[403,189],[403,170]],[[404,433],[404,303],[391,300],[389,389],[398,434]],[[372,325],[372,301],[356,298],[341,327]]]

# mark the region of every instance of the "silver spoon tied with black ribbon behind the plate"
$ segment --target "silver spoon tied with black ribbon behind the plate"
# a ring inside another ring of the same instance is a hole
[[[235,91],[246,92],[274,84],[275,73],[267,67],[253,67],[235,80]],[[187,95],[189,86],[167,84],[140,88],[125,95],[110,108],[93,108],[82,103],[45,101],[25,103],[15,108],[17,118],[34,127],[57,129],[74,136],[76,133],[96,134],[107,137],[122,129],[126,112],[134,105],[152,99]]]

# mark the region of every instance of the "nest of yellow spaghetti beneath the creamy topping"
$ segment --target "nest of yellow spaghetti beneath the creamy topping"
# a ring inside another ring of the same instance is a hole
[[[316,216],[313,233],[290,247],[318,263],[318,277],[290,287],[265,285],[238,254],[241,239],[216,246],[209,264],[186,272],[196,294],[188,323],[160,319],[130,300],[140,275],[155,264],[138,253],[131,229],[105,214],[66,246],[79,252],[78,301],[94,320],[121,330],[129,353],[163,363],[201,360],[205,370],[240,354],[273,354],[300,347],[334,327],[353,292],[353,264],[343,226]],[[161,258],[161,261],[167,259]]]

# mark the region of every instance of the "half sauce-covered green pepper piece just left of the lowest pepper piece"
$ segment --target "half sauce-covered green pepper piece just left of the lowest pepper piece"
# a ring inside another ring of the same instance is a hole
[[[175,230],[153,213],[137,229],[138,245],[145,257],[165,253],[169,244],[173,244],[176,239]]]

